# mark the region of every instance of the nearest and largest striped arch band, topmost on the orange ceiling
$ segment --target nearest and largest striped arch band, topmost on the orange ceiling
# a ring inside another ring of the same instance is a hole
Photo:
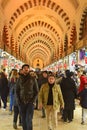
[[[70,19],[67,15],[67,13],[55,2],[52,0],[29,0],[28,2],[25,2],[23,5],[20,5],[16,9],[16,11],[12,14],[10,20],[9,20],[9,28],[11,29],[16,19],[26,10],[33,8],[35,6],[46,6],[47,8],[53,10],[57,15],[60,15],[60,17],[63,19],[63,21],[66,23],[66,26],[68,29],[70,29]]]

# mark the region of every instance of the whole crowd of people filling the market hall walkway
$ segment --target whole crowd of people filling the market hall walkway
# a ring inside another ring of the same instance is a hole
[[[12,69],[8,76],[5,69],[0,72],[0,107],[6,110],[9,102],[14,129],[17,129],[19,117],[23,130],[33,130],[34,110],[41,110],[41,117],[47,119],[48,130],[57,130],[59,112],[63,122],[73,121],[75,99],[82,107],[83,125],[87,116],[86,71],[35,72],[24,64],[19,71]]]

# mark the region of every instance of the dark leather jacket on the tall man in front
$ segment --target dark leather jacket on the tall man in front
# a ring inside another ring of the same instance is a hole
[[[38,95],[36,79],[30,74],[20,75],[16,85],[16,95],[19,104],[35,103]]]

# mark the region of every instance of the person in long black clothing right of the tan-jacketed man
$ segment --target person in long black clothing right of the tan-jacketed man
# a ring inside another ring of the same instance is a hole
[[[75,109],[75,98],[77,96],[74,80],[71,78],[69,70],[65,71],[66,77],[61,81],[61,91],[64,99],[63,120],[71,122],[73,119],[73,111]]]

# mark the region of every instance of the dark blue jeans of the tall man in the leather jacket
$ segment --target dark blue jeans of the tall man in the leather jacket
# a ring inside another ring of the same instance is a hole
[[[22,118],[22,127],[23,130],[33,130],[32,119],[34,114],[34,105],[33,103],[24,104],[21,103],[20,114]]]

